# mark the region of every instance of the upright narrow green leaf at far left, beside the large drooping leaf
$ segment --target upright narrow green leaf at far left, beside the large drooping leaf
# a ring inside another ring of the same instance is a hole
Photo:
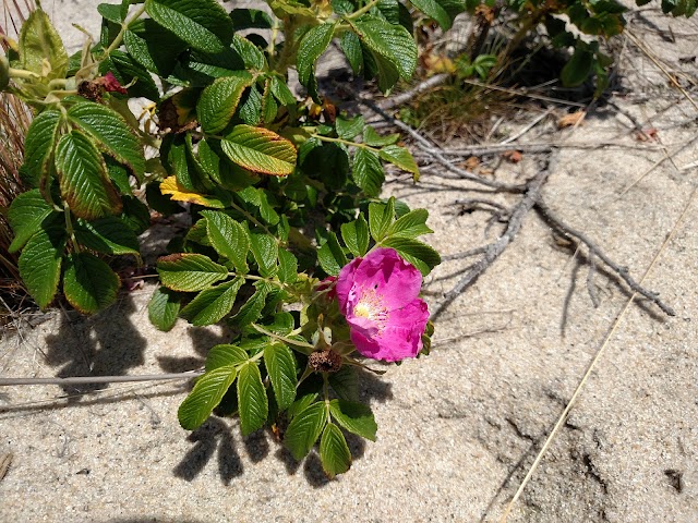
[[[49,159],[56,147],[60,131],[61,112],[46,109],[32,120],[24,142],[25,181],[33,187],[39,186],[39,180],[49,175]]]

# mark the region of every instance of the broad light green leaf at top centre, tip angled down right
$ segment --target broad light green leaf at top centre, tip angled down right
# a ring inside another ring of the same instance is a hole
[[[352,25],[363,45],[392,62],[402,80],[412,77],[417,68],[417,45],[405,27],[370,14],[353,21]]]

